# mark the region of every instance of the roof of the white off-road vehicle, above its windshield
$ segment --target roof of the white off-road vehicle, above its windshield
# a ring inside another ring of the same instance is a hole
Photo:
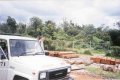
[[[23,37],[23,36],[16,36],[16,35],[0,35],[1,39],[23,39],[23,40],[37,40],[35,38],[32,37]]]

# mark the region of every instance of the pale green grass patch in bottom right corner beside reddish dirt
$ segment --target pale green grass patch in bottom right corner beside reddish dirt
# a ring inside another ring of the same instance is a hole
[[[119,72],[104,71],[100,68],[95,68],[95,67],[86,67],[86,70],[88,70],[90,73],[103,76],[105,78],[120,79]]]

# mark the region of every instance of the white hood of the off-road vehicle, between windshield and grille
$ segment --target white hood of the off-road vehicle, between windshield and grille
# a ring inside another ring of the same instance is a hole
[[[65,63],[63,59],[45,55],[12,57],[11,61],[20,64],[21,66],[37,70],[49,70],[70,66],[69,64]]]

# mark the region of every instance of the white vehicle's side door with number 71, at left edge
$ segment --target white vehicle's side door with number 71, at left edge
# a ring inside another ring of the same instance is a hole
[[[0,80],[7,80],[7,74],[8,57],[3,49],[3,44],[0,42]]]

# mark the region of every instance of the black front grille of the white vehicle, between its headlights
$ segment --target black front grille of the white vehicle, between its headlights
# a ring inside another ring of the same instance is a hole
[[[64,78],[67,75],[67,69],[62,69],[62,70],[56,70],[56,71],[51,71],[48,73],[49,74],[49,79],[59,79],[59,78]]]

